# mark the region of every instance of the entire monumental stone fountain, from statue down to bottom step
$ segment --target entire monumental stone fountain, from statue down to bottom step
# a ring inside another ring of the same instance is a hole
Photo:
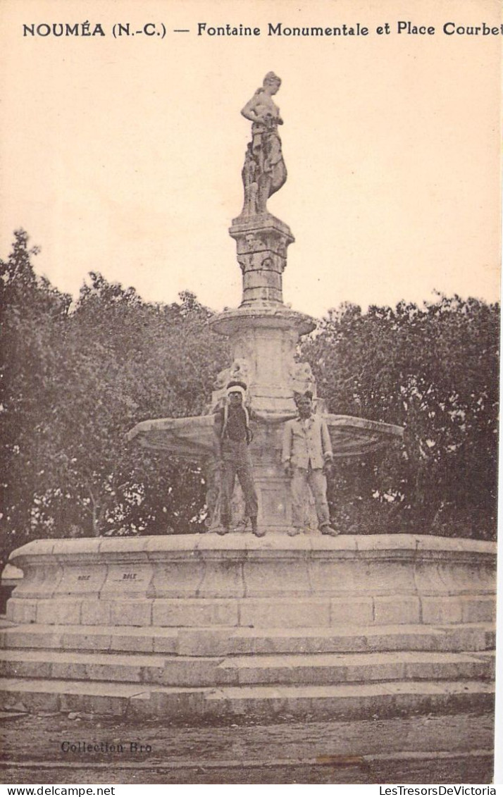
[[[212,321],[230,340],[206,414],[146,420],[132,445],[212,469],[214,410],[230,379],[248,386],[250,446],[265,536],[203,534],[35,540],[12,552],[24,577],[0,632],[4,709],[163,717],[367,717],[490,707],[495,545],[416,534],[290,537],[281,468],[285,418],[311,391],[336,457],[399,439],[386,423],[324,412],[286,306],[293,234],[269,213],[286,169],[269,73],[243,108],[252,122],[245,201],[230,235],[242,303]],[[214,464],[214,463],[213,463]],[[306,501],[307,501],[306,497]],[[245,530],[245,533],[242,531]],[[371,529],[367,529],[371,532]]]

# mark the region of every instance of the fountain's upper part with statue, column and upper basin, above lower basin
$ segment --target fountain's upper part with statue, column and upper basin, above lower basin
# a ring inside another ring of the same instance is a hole
[[[129,434],[130,441],[147,448],[167,450],[205,464],[211,460],[214,446],[212,410],[224,400],[226,384],[242,379],[248,385],[250,407],[258,416],[250,453],[258,520],[266,532],[285,532],[292,524],[289,479],[281,467],[281,435],[282,422],[296,414],[295,393],[312,392],[316,410],[327,422],[335,457],[362,455],[387,446],[403,433],[400,426],[325,413],[311,368],[296,361],[301,336],[312,332],[316,322],[283,303],[282,275],[287,248],[294,238],[289,226],[270,214],[266,206],[269,196],[286,180],[277,135],[282,120],[271,96],[280,84],[273,73],[266,75],[263,88],[242,110],[252,121],[252,140],[242,170],[243,210],[230,227],[242,270],[242,302],[238,309],[220,313],[211,324],[214,332],[229,336],[230,367],[218,374],[208,414],[144,421]],[[239,489],[236,493],[240,505]],[[238,506],[237,515],[244,528],[242,506]],[[212,528],[217,525],[218,520]]]

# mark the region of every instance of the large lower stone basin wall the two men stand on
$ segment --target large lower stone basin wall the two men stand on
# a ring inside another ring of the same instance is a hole
[[[496,544],[427,535],[34,540],[11,622],[311,627],[492,622]],[[200,651],[198,651],[200,653]]]

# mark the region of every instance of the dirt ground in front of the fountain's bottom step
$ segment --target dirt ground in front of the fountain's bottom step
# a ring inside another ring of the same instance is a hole
[[[81,714],[2,719],[2,783],[489,784],[493,777],[493,719],[476,713],[214,727]]]

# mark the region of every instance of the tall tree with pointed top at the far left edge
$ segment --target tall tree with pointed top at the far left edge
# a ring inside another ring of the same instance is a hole
[[[0,261],[2,525],[21,538],[21,530],[32,532],[48,475],[42,441],[53,403],[54,341],[71,300],[35,276],[36,254],[17,230],[8,259]]]

